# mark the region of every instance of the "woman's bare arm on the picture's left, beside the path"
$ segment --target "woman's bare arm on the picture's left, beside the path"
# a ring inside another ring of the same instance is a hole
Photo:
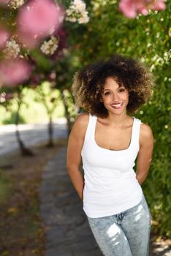
[[[88,113],[81,113],[77,116],[69,135],[66,154],[66,168],[81,200],[83,200],[84,179],[79,167],[87,125]]]

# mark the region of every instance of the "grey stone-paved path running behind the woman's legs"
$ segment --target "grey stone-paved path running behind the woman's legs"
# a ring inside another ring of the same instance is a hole
[[[102,256],[66,171],[66,147],[47,163],[39,197],[47,238],[45,256]],[[171,256],[171,249],[151,243],[150,256]]]

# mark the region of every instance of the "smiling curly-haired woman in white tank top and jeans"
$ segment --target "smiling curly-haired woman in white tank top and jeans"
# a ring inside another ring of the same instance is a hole
[[[129,114],[147,101],[152,88],[148,70],[119,55],[83,68],[72,85],[76,104],[88,113],[77,116],[72,127],[66,166],[107,256],[148,255],[151,213],[140,185],[151,164],[153,132]]]

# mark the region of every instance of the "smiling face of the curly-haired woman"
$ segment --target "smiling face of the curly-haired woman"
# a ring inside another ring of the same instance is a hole
[[[118,85],[114,78],[107,78],[102,92],[104,107],[112,113],[123,113],[129,102],[129,91]]]

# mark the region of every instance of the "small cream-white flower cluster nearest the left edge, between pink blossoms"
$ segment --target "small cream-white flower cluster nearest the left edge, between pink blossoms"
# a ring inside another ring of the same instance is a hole
[[[11,38],[7,41],[3,53],[7,58],[16,58],[20,53],[20,45],[18,45],[18,42],[16,42],[15,39]]]

